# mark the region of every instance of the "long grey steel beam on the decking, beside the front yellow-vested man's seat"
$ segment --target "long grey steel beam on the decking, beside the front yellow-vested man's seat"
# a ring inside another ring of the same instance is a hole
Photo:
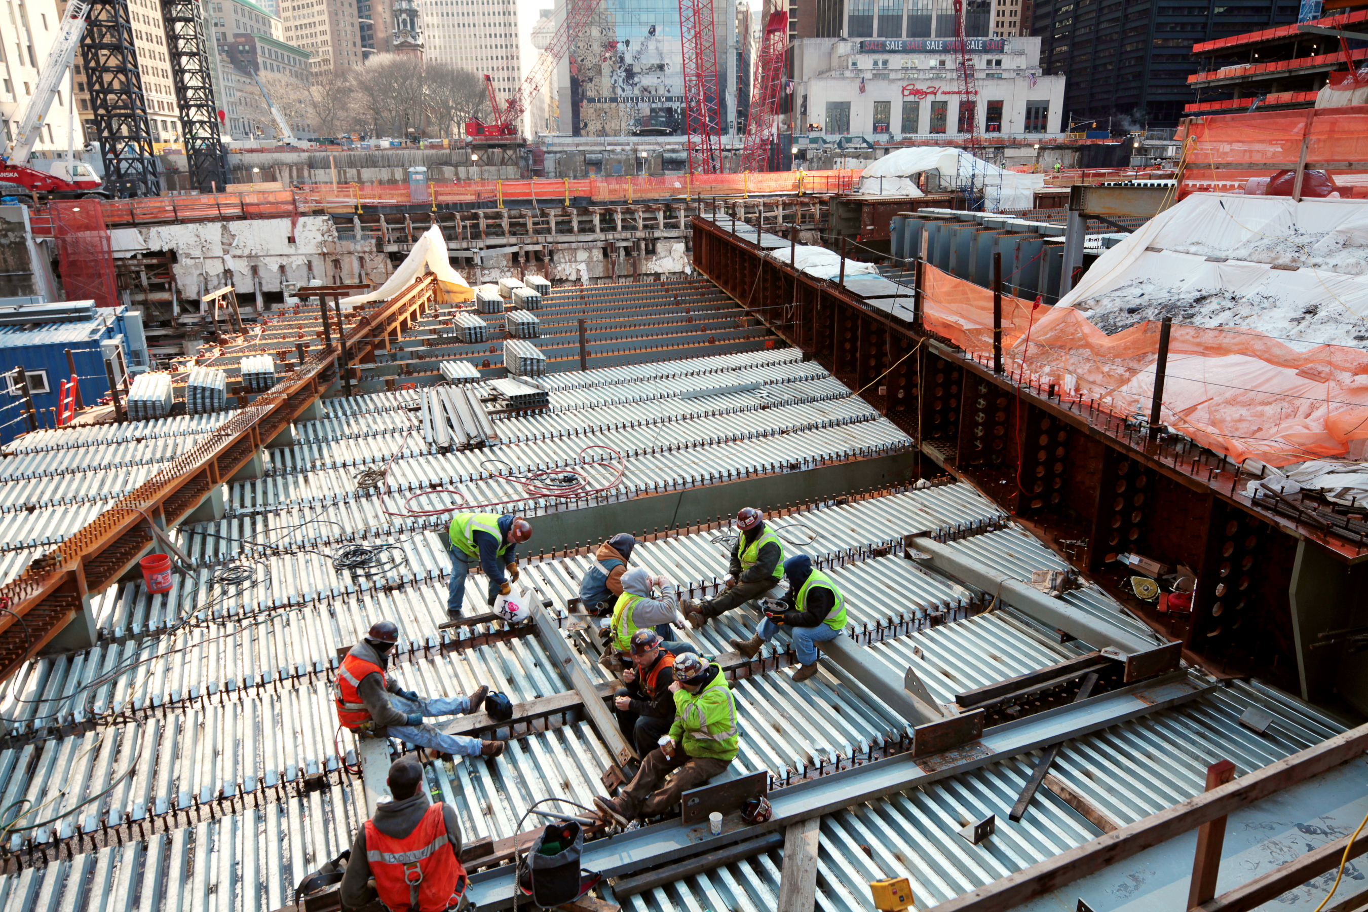
[[[580,863],[605,876],[617,876],[670,859],[711,852],[733,842],[754,840],[765,833],[784,830],[802,820],[844,811],[863,801],[929,785],[1048,744],[1077,738],[1186,703],[1213,686],[1190,680],[1182,673],[1170,674],[1148,684],[1112,690],[1082,703],[1071,703],[996,726],[985,732],[981,741],[941,755],[914,759],[911,752],[900,753],[772,792],[770,804],[774,814],[763,824],[736,826],[736,819],[729,818],[722,824],[721,835],[710,835],[706,829],[702,831],[700,827],[685,829],[672,820],[588,842]],[[513,878],[512,866],[482,871],[471,876],[468,896],[482,909],[510,908]]]

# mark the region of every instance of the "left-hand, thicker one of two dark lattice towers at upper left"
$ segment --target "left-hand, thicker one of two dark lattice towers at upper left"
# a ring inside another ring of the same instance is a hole
[[[96,0],[81,42],[90,92],[96,141],[104,160],[104,186],[115,197],[161,194],[152,122],[142,93],[138,52],[133,46],[129,0]]]

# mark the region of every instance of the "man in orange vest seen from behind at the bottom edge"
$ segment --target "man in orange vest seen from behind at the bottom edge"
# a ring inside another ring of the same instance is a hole
[[[378,804],[356,831],[338,887],[342,908],[350,912],[376,898],[391,912],[469,908],[456,808],[428,801],[423,767],[413,760],[395,760],[386,782],[394,800]]]

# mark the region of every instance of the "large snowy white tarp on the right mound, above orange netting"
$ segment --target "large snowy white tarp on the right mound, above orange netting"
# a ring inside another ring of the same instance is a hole
[[[1368,206],[1194,193],[1103,253],[1059,306],[1078,308],[1108,334],[1171,316],[1361,347]]]

